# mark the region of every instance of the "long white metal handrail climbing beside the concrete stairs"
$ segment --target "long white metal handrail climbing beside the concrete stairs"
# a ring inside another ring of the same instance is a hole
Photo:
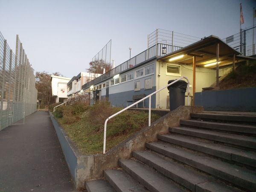
[[[186,77],[184,77],[184,76],[181,77],[180,79],[183,79],[183,78],[185,78],[185,79],[188,81],[188,105],[189,105],[189,79],[186,78]],[[128,107],[126,107],[126,108],[122,109],[121,111],[118,111],[117,113],[115,113],[115,114],[111,115],[110,117],[108,117],[108,119],[106,119],[105,125],[104,125],[103,154],[106,153],[107,122],[108,122],[109,119],[111,119],[111,118],[113,118],[114,116],[118,115],[119,113],[122,113],[123,111],[125,111],[125,110],[127,110],[127,109],[133,107],[134,105],[137,105],[137,103],[140,103],[140,102],[142,102],[143,100],[149,98],[149,102],[148,102],[148,105],[149,105],[149,106],[148,106],[148,126],[150,126],[150,125],[151,125],[151,96],[154,95],[154,94],[156,94],[156,93],[159,92],[160,90],[163,90],[163,89],[165,89],[166,87],[168,87],[168,86],[170,86],[170,85],[176,83],[176,82],[179,81],[180,79],[176,79],[175,81],[173,81],[172,83],[166,85],[165,87],[162,87],[161,89],[155,91],[154,93],[151,93],[150,95],[145,96],[143,99],[140,99],[139,101],[135,102],[134,104],[129,105]]]

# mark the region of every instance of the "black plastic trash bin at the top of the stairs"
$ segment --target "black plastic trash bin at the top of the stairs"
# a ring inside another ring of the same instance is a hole
[[[168,81],[168,84],[172,83],[176,80]],[[170,111],[178,108],[181,105],[185,105],[185,93],[188,83],[183,80],[179,80],[174,84],[168,86],[169,90],[169,103],[170,103]]]

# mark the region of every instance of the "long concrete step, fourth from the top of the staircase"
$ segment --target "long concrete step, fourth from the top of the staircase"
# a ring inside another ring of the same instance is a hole
[[[175,145],[256,167],[256,152],[254,151],[245,151],[239,148],[219,145],[212,142],[207,143],[197,140],[196,138],[178,134],[158,135],[157,138]]]

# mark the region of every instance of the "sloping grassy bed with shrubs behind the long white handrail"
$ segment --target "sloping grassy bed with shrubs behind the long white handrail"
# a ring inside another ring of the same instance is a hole
[[[78,104],[61,107],[53,113],[70,139],[83,154],[103,152],[105,120],[122,108],[111,108],[106,100],[100,100],[93,106]],[[78,112],[79,111],[79,112]],[[58,114],[62,117],[59,118]],[[72,115],[71,115],[72,114]],[[160,116],[151,112],[151,122]],[[148,113],[143,111],[124,111],[113,117],[107,124],[106,150],[118,145],[140,129],[148,126]]]

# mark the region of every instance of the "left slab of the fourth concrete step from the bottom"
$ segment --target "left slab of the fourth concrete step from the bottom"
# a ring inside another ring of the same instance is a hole
[[[192,192],[195,192],[196,185],[198,183],[205,183],[214,180],[211,177],[199,174],[198,172],[190,170],[178,163],[160,157],[153,152],[134,151],[133,156],[147,164],[149,167],[153,167],[157,172],[162,173],[166,177],[169,177],[180,185],[188,188]]]

